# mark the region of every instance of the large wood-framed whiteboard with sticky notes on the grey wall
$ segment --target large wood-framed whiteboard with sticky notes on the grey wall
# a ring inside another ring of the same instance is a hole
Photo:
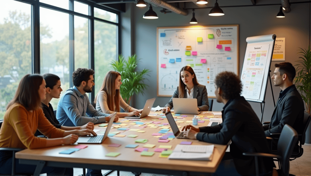
[[[209,98],[215,98],[219,72],[239,71],[239,25],[157,28],[157,96],[170,97],[179,86],[179,72],[193,68]]]

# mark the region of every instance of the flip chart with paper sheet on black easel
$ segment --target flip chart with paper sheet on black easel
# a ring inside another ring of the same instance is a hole
[[[246,38],[241,96],[248,101],[264,102],[275,39],[275,34]]]

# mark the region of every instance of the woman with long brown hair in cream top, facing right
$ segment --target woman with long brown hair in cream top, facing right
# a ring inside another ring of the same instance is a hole
[[[96,109],[107,114],[117,112],[119,117],[130,117],[133,115],[139,116],[139,113],[142,113],[142,109],[132,108],[126,104],[121,97],[121,84],[121,74],[119,72],[109,71],[106,74],[103,85],[94,100]],[[124,113],[120,113],[120,107],[125,111]]]

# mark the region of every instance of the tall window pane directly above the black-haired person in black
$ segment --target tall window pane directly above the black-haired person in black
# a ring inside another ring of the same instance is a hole
[[[40,7],[40,68],[41,74],[60,77],[62,94],[69,88],[69,14]],[[51,104],[57,108],[59,99]]]

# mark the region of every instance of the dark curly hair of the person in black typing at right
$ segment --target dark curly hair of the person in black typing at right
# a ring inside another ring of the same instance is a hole
[[[230,100],[240,96],[242,83],[240,78],[233,72],[221,72],[216,76],[215,84],[222,90],[221,97]]]

